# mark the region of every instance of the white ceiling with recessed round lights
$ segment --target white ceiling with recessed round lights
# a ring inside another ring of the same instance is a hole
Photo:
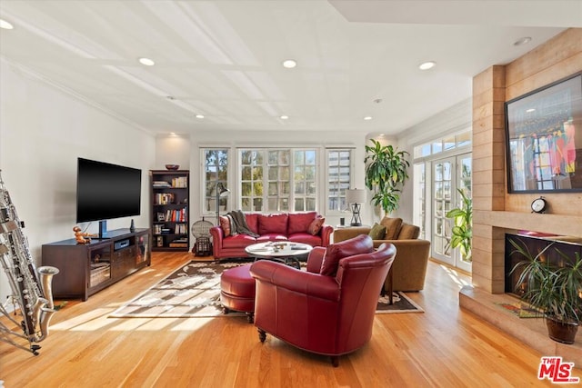
[[[2,0],[0,18],[9,63],[152,134],[398,134],[582,27],[582,0]]]

